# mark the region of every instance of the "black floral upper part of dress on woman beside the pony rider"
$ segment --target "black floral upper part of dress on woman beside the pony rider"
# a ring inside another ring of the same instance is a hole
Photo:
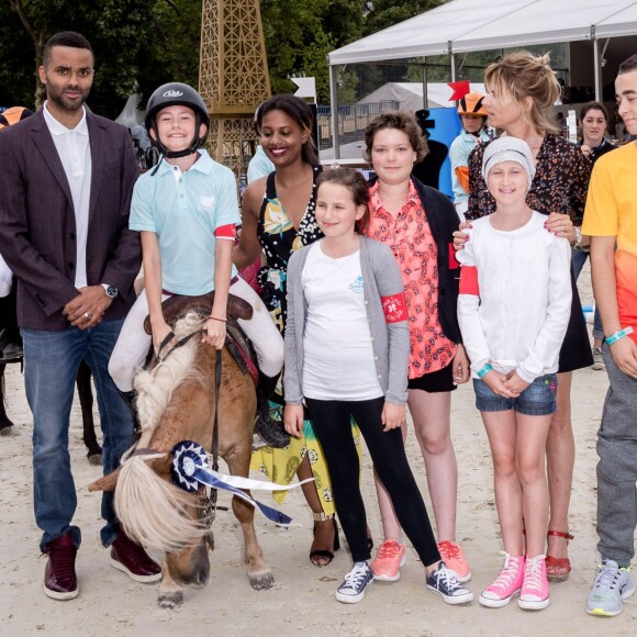
[[[322,170],[322,166],[314,166],[312,194],[298,231],[277,197],[276,172],[268,175],[266,194],[257,223],[257,237],[266,255],[267,265],[259,270],[257,280],[264,290],[261,299],[281,334],[286,332],[288,317],[286,300],[288,260],[294,250],[323,237],[315,216],[316,178]]]

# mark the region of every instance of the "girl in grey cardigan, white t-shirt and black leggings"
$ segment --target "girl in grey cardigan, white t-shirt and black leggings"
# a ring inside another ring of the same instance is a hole
[[[470,602],[472,593],[440,561],[402,440],[410,342],[400,269],[389,247],[357,232],[369,220],[362,176],[336,168],[317,185],[316,222],[325,237],[288,264],[284,423],[300,437],[305,403],[325,454],[354,560],[336,599],[359,602],[373,582],[354,417],[425,566],[427,588],[449,604]]]

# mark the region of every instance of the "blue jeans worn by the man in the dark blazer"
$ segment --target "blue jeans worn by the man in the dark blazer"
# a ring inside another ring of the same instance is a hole
[[[133,443],[133,415],[108,373],[122,324],[123,320],[103,321],[89,329],[22,329],[26,399],[33,413],[33,504],[35,521],[44,532],[41,550],[69,530],[77,547],[81,541],[80,529],[71,526],[77,494],[68,429],[75,379],[82,358],[96,383],[104,474],[118,468],[122,454]],[[102,517],[107,524],[101,540],[110,546],[119,527],[112,493],[102,495]]]

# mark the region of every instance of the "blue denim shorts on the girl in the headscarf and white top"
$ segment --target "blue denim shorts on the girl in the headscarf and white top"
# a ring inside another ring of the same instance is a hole
[[[557,375],[547,373],[536,378],[517,398],[507,399],[493,393],[479,378],[473,379],[476,407],[481,412],[515,410],[527,416],[549,416],[556,411]]]

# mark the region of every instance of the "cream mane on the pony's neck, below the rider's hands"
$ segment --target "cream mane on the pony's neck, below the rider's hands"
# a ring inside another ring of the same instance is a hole
[[[205,317],[195,312],[189,312],[175,324],[175,338],[181,338],[198,332],[205,323]],[[155,431],[161,415],[168,407],[172,392],[186,380],[200,380],[200,375],[193,368],[194,357],[200,346],[200,338],[194,336],[175,350],[150,370],[142,370],[134,380],[137,392],[137,414],[143,434]]]

